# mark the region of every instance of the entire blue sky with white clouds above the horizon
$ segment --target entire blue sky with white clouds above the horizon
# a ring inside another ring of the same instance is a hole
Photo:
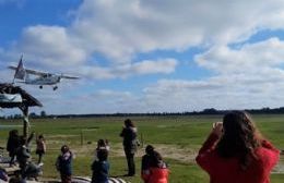
[[[281,0],[0,0],[0,78],[21,54],[80,75],[21,85],[49,114],[283,107],[283,22]]]

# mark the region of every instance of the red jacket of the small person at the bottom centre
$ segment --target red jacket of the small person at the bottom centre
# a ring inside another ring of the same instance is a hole
[[[167,168],[150,168],[149,173],[142,173],[141,176],[146,183],[168,183]]]

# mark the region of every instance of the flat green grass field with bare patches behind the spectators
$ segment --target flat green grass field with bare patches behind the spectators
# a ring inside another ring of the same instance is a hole
[[[94,157],[96,141],[107,138],[110,142],[110,175],[126,173],[126,159],[119,133],[125,118],[92,119],[32,119],[31,131],[43,133],[47,141],[47,154],[44,157],[44,176],[59,178],[55,161],[61,145],[68,144],[76,155],[73,161],[74,175],[91,175],[90,166]],[[262,134],[277,148],[284,149],[284,115],[252,115]],[[169,164],[171,183],[205,183],[209,176],[194,162],[194,157],[206,138],[213,122],[221,121],[218,115],[193,117],[131,117],[139,129],[139,138],[143,145],[152,144]],[[21,125],[22,121],[0,120],[3,125]],[[22,127],[17,126],[22,132]],[[11,129],[0,130],[0,146],[4,147]],[[33,159],[36,160],[35,143],[32,145]],[[140,147],[135,163],[137,176],[126,178],[139,183],[140,162],[144,148]],[[283,158],[281,163],[283,162]],[[284,174],[273,173],[272,183],[281,183]]]

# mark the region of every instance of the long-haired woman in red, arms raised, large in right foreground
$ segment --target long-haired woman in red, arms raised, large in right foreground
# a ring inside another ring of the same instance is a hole
[[[279,158],[280,150],[261,136],[248,113],[233,111],[213,124],[196,160],[211,183],[270,183]]]

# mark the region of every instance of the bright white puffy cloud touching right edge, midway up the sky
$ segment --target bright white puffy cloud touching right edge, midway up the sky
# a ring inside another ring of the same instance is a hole
[[[218,73],[260,73],[277,69],[284,63],[284,42],[271,38],[261,42],[247,44],[240,49],[227,46],[212,47],[205,53],[196,57],[203,68]]]

